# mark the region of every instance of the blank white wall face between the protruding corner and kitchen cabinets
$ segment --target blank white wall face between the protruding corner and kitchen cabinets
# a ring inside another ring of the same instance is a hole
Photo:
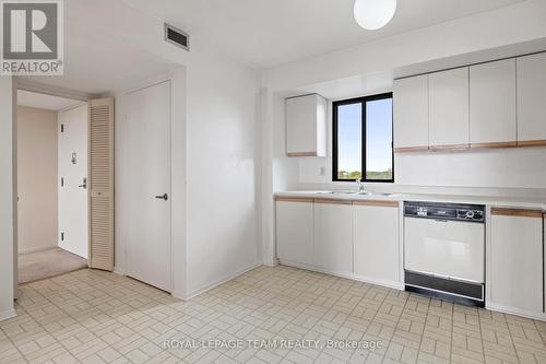
[[[188,66],[187,294],[261,263],[259,75],[201,57]]]

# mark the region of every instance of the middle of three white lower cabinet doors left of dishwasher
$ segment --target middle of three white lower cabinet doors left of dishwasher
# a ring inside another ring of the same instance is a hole
[[[314,259],[325,272],[353,273],[352,206],[342,201],[314,202]]]

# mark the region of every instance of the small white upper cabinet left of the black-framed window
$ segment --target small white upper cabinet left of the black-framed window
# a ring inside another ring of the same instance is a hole
[[[327,156],[327,99],[317,94],[286,99],[288,156]]]

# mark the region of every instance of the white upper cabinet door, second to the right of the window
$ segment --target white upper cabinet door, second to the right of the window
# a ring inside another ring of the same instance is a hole
[[[430,73],[430,146],[468,146],[468,68]]]

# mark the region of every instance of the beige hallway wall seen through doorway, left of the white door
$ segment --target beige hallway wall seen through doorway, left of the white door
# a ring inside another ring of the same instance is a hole
[[[57,113],[17,106],[19,253],[57,246]]]

